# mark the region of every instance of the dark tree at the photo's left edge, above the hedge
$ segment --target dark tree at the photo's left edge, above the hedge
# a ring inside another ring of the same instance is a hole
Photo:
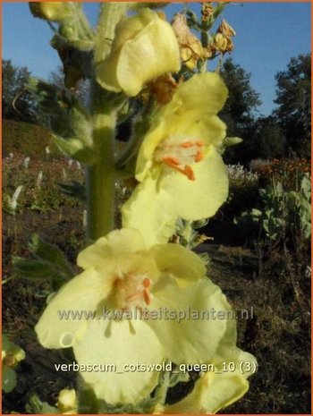
[[[30,79],[29,70],[14,66],[11,60],[2,60],[2,112],[3,118],[26,123],[36,123],[34,100],[24,88]]]

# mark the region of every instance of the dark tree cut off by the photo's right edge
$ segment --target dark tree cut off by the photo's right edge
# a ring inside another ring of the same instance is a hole
[[[285,137],[287,153],[310,155],[311,56],[292,57],[286,71],[277,72],[274,115]]]

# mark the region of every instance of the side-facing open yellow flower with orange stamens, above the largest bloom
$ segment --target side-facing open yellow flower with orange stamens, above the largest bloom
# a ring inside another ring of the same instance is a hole
[[[228,195],[219,149],[225,125],[216,116],[227,89],[213,72],[194,75],[163,106],[140,147],[140,182],[122,208],[123,226],[138,228],[148,244],[166,242],[180,216],[214,216]]]

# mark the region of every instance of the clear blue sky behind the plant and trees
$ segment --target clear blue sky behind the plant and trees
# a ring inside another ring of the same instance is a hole
[[[165,8],[168,18],[186,4]],[[199,11],[199,4],[190,4]],[[260,114],[268,115],[275,106],[275,73],[286,69],[292,56],[306,54],[310,45],[309,3],[233,3],[223,17],[237,32],[233,60],[251,72],[251,86],[263,102]],[[97,21],[97,3],[85,4],[89,21]],[[60,64],[56,51],[49,47],[52,32],[45,21],[34,19],[28,4],[3,3],[3,58],[14,65],[27,66],[32,75],[47,78]]]

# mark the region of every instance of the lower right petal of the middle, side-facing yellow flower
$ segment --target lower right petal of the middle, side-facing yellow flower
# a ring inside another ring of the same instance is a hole
[[[192,165],[195,181],[168,169],[160,188],[173,197],[179,216],[198,220],[214,216],[228,195],[228,177],[222,157],[211,147],[207,157]]]

